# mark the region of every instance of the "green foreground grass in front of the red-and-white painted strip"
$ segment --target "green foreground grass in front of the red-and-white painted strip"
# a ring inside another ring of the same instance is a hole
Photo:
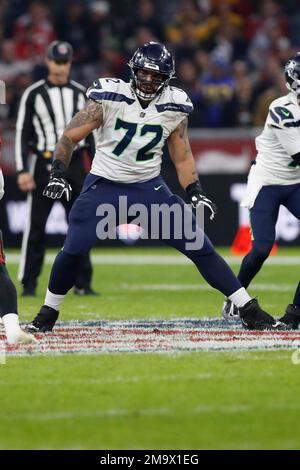
[[[0,448],[297,449],[285,352],[9,358]]]

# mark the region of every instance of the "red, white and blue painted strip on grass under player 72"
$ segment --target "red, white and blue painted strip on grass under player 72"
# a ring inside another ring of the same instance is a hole
[[[248,331],[221,319],[58,322],[33,345],[7,345],[7,356],[182,351],[278,350],[300,347],[300,331]],[[298,349],[299,351],[299,349]],[[298,358],[296,358],[297,360]]]

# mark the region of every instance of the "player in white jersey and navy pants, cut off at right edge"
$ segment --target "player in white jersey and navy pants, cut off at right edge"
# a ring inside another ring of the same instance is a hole
[[[250,210],[252,249],[242,261],[238,274],[247,288],[268,258],[275,241],[280,205],[300,219],[300,53],[285,65],[287,95],[274,100],[262,133],[256,138],[257,157],[253,162],[241,205]],[[223,316],[239,315],[230,299],[225,299]],[[300,323],[300,288],[293,303],[280,319],[290,328]]]

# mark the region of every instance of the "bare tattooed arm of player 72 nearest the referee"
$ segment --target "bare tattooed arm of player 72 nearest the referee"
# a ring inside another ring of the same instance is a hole
[[[94,129],[103,123],[103,110],[101,103],[88,100],[85,107],[81,109],[64,130],[63,135],[58,140],[54,158],[60,160],[67,167],[71,161],[75,146],[88,136]]]

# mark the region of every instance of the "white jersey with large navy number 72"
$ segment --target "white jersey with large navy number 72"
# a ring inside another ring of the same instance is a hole
[[[124,183],[160,174],[166,139],[193,110],[187,94],[170,86],[143,108],[130,83],[117,78],[94,81],[87,98],[103,107],[91,173]]]

